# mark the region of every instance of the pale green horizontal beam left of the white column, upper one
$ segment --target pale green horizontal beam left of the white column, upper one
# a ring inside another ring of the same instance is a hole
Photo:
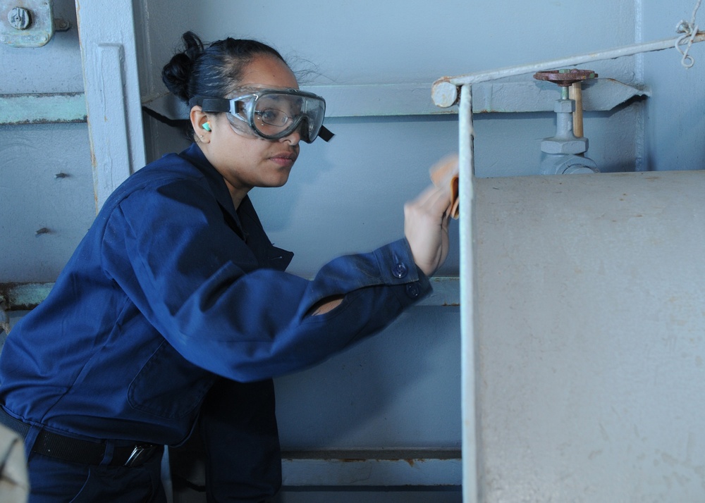
[[[85,122],[82,92],[0,94],[0,125]]]

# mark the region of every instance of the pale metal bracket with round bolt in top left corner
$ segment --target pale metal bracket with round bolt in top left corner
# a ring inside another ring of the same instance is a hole
[[[56,31],[68,30],[64,20],[54,20],[53,0],[1,0],[0,42],[13,47],[41,47]]]

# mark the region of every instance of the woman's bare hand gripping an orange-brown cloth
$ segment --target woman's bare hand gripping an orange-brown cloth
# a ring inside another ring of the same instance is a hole
[[[404,205],[404,235],[416,265],[427,276],[448,256],[449,207],[450,191],[433,186]]]

